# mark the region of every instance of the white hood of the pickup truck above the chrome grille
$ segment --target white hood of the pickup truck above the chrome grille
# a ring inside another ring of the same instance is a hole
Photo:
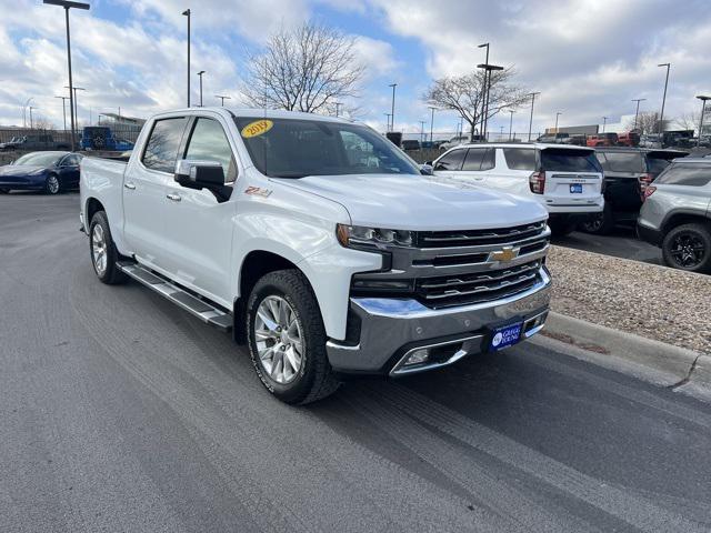
[[[339,202],[354,225],[441,231],[505,228],[548,217],[535,201],[437,177],[311,175],[279,181]]]

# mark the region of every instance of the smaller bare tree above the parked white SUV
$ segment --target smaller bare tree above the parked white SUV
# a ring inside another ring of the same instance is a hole
[[[517,109],[529,99],[527,91],[511,83],[515,74],[512,68],[491,72],[489,112],[487,120],[504,109]],[[469,74],[440,78],[422,97],[430,105],[457,111],[469,123],[470,135],[481,122],[484,94],[484,72],[475,70]]]

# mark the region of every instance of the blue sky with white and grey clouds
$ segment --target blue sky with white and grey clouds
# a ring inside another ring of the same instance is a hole
[[[250,50],[270,32],[306,20],[357,39],[367,77],[359,118],[384,129],[389,83],[398,83],[395,128],[414,132],[429,111],[421,95],[433,78],[461,74],[490,60],[513,66],[517,82],[541,91],[534,130],[552,125],[618,122],[659,110],[664,69],[671,62],[665,115],[698,111],[695,94],[711,93],[710,0],[96,0],[73,10],[72,60],[80,122],[100,112],[146,117],[184,104],[186,18],[192,10],[192,70],[206,70],[207,104],[214,94],[239,98]],[[63,10],[41,0],[0,0],[0,124],[21,124],[32,98],[34,115],[62,123],[67,94]],[[193,78],[197,98],[198,79]],[[499,131],[509,117],[493,119]],[[451,132],[458,119],[435,115],[434,130]],[[513,129],[528,130],[528,110]]]

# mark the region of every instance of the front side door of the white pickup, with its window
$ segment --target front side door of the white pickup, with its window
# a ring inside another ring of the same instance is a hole
[[[222,164],[226,184],[237,180],[237,153],[227,124],[218,115],[193,117],[180,159]],[[207,190],[188,189],[170,179],[162,199],[166,209],[161,266],[179,283],[231,306],[231,245],[236,202],[219,201]]]

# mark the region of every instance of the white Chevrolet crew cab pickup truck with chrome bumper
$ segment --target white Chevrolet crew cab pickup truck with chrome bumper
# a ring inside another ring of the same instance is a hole
[[[102,282],[232,330],[269,391],[308,403],[543,326],[545,209],[424,171],[342,119],[183,109],[151,118],[128,163],[83,159],[80,219]]]

